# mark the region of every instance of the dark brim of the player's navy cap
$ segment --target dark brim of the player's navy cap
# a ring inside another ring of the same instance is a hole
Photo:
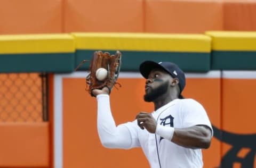
[[[144,78],[148,78],[148,75],[149,73],[153,70],[153,69],[156,69],[156,68],[159,68],[159,69],[163,69],[165,70],[165,68],[163,68],[162,65],[154,62],[154,61],[145,61],[145,62],[142,62],[140,64],[140,73],[142,74],[142,76]],[[166,71],[166,70],[165,70]]]

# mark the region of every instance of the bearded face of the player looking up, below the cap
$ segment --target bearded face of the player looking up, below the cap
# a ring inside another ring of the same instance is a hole
[[[152,70],[146,80],[145,102],[153,102],[156,98],[165,94],[170,87],[170,78],[171,76],[163,70]]]

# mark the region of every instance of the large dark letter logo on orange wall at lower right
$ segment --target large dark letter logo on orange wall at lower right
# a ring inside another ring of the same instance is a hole
[[[214,137],[219,139],[222,142],[225,142],[232,147],[228,152],[222,156],[221,167],[231,168],[234,163],[240,163],[241,167],[253,168],[254,157],[256,153],[256,134],[249,135],[239,135],[236,133],[231,133],[218,128],[212,125]],[[239,152],[243,149],[247,150],[247,153],[244,157],[239,156]]]

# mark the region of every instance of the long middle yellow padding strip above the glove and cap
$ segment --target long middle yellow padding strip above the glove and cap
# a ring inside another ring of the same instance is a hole
[[[210,52],[211,38],[205,35],[156,33],[72,33],[76,49],[123,51]]]

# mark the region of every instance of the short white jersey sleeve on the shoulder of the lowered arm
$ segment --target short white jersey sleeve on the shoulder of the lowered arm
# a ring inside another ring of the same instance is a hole
[[[204,107],[194,99],[186,99],[181,104],[182,125],[184,128],[207,125],[213,136],[213,129]]]

